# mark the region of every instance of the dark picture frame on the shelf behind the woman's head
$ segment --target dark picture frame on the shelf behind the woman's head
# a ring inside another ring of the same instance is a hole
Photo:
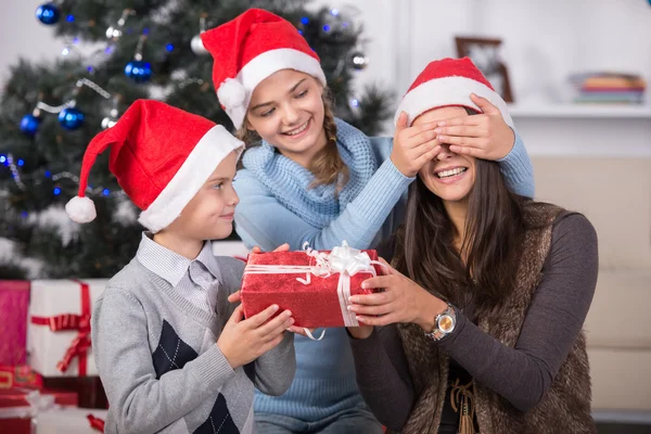
[[[456,37],[457,55],[470,58],[506,102],[513,102],[509,71],[500,56],[502,40]]]

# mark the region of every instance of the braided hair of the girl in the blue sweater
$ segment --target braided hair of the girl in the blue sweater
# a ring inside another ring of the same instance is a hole
[[[308,167],[309,171],[315,176],[315,180],[309,187],[315,188],[336,183],[335,191],[339,193],[348,182],[350,174],[348,166],[342,159],[336,148],[336,124],[334,122],[334,114],[332,113],[332,97],[328,88],[323,88],[321,99],[323,101],[323,130],[326,131],[328,143],[315,156]],[[247,125],[245,119],[242,127],[235,132],[235,136],[246,143],[247,146],[256,145],[261,139],[256,131],[250,130]]]

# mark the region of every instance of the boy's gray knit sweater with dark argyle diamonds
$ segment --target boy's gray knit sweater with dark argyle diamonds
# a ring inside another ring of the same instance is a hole
[[[296,361],[292,333],[233,371],[216,345],[244,264],[217,257],[215,312],[201,309],[138,259],[107,283],[92,315],[92,346],[110,403],[105,433],[252,433],[254,385],[282,395]]]

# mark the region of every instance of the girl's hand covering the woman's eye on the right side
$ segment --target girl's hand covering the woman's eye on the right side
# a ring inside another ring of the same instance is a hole
[[[435,131],[450,151],[483,159],[503,158],[513,149],[515,133],[502,118],[501,112],[488,100],[472,93],[472,102],[482,114],[441,120]]]

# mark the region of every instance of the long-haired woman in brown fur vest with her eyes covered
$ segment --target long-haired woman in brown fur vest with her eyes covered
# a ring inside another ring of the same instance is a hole
[[[429,93],[449,78],[454,91]],[[467,94],[489,86],[468,59],[433,62],[419,80],[432,86],[413,92],[432,103],[408,94],[401,107],[416,126],[476,113]],[[362,396],[401,433],[595,433],[582,332],[592,226],[510,192],[495,163],[450,148],[409,188],[394,267],[365,282],[384,291],[352,297]]]

